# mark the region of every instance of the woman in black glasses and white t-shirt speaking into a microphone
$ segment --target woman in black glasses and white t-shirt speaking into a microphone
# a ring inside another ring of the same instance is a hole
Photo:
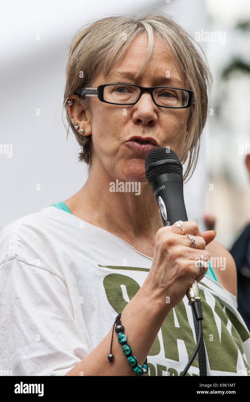
[[[69,199],[2,231],[4,328],[12,337],[1,363],[13,375],[136,375],[116,332],[112,340],[119,313],[136,367],[147,358],[148,375],[181,375],[196,343],[185,296],[195,278],[207,375],[249,369],[232,256],[193,221],[163,227],[145,176],[146,155],[157,147],[170,147],[181,163],[189,154],[184,180],[195,168],[210,82],[188,35],[163,13],[104,18],[75,35],[64,105],[89,175]],[[151,96],[134,85],[167,88]],[[192,97],[185,90],[194,94],[191,107],[183,107]],[[140,184],[140,194],[112,191],[116,180]],[[205,257],[225,257],[226,270],[215,276],[205,264],[201,272],[195,261]],[[200,375],[198,356],[188,375]]]

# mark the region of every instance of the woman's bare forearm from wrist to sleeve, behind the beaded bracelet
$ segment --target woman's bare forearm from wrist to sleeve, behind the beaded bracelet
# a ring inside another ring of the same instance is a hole
[[[163,297],[154,297],[142,287],[122,311],[120,320],[127,343],[139,365],[144,363],[169,310]],[[114,360],[109,362],[112,330],[113,326],[102,342],[66,375],[136,375],[122,351],[115,330],[112,342]]]

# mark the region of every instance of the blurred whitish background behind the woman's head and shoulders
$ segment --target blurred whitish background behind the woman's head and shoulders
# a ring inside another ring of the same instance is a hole
[[[214,87],[199,163],[184,195],[188,218],[206,230],[203,215],[213,215],[216,239],[230,247],[250,221],[250,181],[245,155],[238,152],[247,142],[250,153],[250,2],[26,0],[1,8],[0,229],[71,197],[87,179],[86,165],[77,161],[79,146],[71,131],[66,139],[61,118],[68,46],[75,31],[89,20],[163,10],[193,38],[202,31],[226,32],[224,44],[199,42]]]

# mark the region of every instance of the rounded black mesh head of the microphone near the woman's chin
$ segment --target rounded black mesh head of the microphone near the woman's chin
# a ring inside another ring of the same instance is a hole
[[[169,159],[176,160],[176,162],[179,162],[179,164],[167,162]],[[169,148],[156,148],[149,152],[145,159],[145,170],[147,170],[153,163],[164,160],[166,160],[166,163],[156,165],[150,169],[149,172],[147,172],[146,178],[149,184],[154,177],[160,176],[160,174],[164,173],[177,173],[182,176],[183,169],[180,160],[175,151]]]

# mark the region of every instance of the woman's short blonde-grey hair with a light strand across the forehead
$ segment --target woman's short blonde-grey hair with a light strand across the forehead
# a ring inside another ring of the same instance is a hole
[[[191,42],[193,38],[164,12],[148,11],[138,17],[110,16],[92,23],[88,22],[79,29],[70,45],[63,107],[69,96],[77,89],[91,87],[98,73],[102,72],[106,78],[125,55],[137,35],[145,33],[148,35],[148,49],[144,63],[135,78],[142,74],[150,59],[154,35],[156,35],[166,44],[166,47],[171,49],[176,58],[181,79],[194,92],[195,105],[189,109],[191,115],[188,125],[189,135],[183,152],[179,156],[180,162],[184,163],[189,154],[187,169],[183,174],[184,181],[190,172],[190,177],[192,176],[197,164],[201,133],[207,119],[207,91],[211,90],[213,78],[207,64],[203,62],[201,55]],[[201,51],[205,56],[202,49]],[[89,103],[88,96],[84,98],[79,95],[79,100],[83,109]],[[91,135],[84,137],[72,125],[70,126],[83,151],[80,152],[78,159],[89,164]],[[68,133],[69,129],[67,135]]]

